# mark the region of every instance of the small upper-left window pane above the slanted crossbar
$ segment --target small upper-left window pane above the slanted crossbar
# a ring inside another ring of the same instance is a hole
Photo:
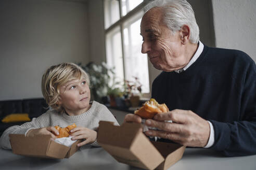
[[[105,29],[107,29],[111,24],[117,22],[120,19],[119,12],[120,12],[119,1],[117,0],[104,1]]]

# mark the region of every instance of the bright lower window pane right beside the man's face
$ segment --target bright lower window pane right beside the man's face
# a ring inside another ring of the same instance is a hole
[[[125,80],[134,81],[137,77],[142,83],[142,93],[149,93],[148,60],[147,55],[141,53],[140,21],[141,18],[124,25]]]

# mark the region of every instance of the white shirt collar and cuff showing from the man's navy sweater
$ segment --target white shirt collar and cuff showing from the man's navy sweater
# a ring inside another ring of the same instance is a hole
[[[195,63],[196,60],[199,58],[200,54],[202,53],[203,47],[204,47],[203,44],[201,43],[201,41],[199,41],[198,49],[197,49],[196,53],[194,54],[194,56],[191,58],[191,60],[188,62],[188,64],[184,68],[182,68],[182,69],[174,70],[174,72],[181,73],[181,72],[185,71],[190,65]],[[208,121],[208,123],[210,125],[210,137],[209,137],[207,145],[205,147],[203,147],[203,148],[209,148],[209,147],[211,147],[214,144],[214,129],[213,129],[213,125],[212,125],[212,123],[210,121]]]

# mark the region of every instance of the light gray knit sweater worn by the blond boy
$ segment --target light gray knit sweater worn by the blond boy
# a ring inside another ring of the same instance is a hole
[[[114,122],[115,125],[119,125],[116,118],[114,118],[108,108],[96,101],[93,101],[91,108],[86,112],[77,116],[69,116],[66,113],[60,114],[56,110],[50,109],[45,112],[45,114],[37,118],[33,118],[31,122],[26,122],[20,126],[11,126],[6,129],[0,138],[0,146],[4,149],[11,149],[9,134],[26,134],[31,129],[39,129],[55,125],[66,127],[73,123],[75,123],[76,126],[83,126],[91,130],[96,130],[99,125],[99,121],[101,120],[111,121]],[[97,141],[91,145],[99,146]]]

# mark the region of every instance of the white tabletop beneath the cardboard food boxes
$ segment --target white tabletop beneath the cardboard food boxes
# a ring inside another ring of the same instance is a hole
[[[0,149],[0,169],[140,169],[117,162],[103,148],[84,146],[69,159],[24,157]],[[186,148],[183,158],[171,169],[256,169],[256,155],[227,158],[209,149]]]

